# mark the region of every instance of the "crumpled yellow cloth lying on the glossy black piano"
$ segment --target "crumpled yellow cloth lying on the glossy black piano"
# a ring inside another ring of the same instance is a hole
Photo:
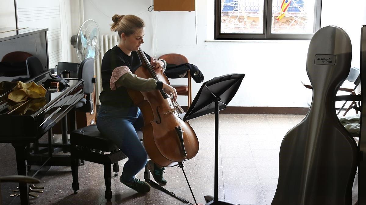
[[[13,91],[9,93],[8,99],[14,102],[23,102],[28,98],[42,98],[46,95],[46,89],[42,85],[37,85],[34,82],[23,83],[16,82]]]

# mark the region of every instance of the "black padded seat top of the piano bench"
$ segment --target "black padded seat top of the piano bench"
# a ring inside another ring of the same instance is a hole
[[[106,152],[118,149],[112,141],[102,136],[96,125],[90,125],[72,131],[70,143]]]

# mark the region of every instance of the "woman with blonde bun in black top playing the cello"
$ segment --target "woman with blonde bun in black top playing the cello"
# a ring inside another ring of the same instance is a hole
[[[138,107],[134,105],[127,89],[142,92],[162,89],[175,100],[177,92],[172,86],[153,78],[139,78],[132,74],[142,65],[137,50],[143,43],[143,20],[135,15],[114,15],[111,30],[117,31],[119,44],[105,53],[102,59],[101,78],[102,92],[100,93],[100,108],[97,116],[99,131],[112,140],[117,147],[128,157],[123,166],[120,182],[136,190],[146,193],[150,185],[136,178],[136,174],[145,167],[151,171],[155,181],[164,185],[164,167],[156,165],[152,160],[147,161],[145,148],[139,141],[136,133],[143,126],[143,117]],[[156,73],[163,72],[166,62],[155,59],[145,53],[155,66]]]

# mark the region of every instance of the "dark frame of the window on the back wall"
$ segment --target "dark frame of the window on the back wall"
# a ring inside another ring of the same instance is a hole
[[[313,34],[273,34],[272,31],[272,2],[263,0],[263,33],[262,34],[223,34],[221,31],[221,0],[215,0],[214,11],[214,39],[215,40],[310,40],[316,31],[320,29],[321,3],[315,0]],[[270,6],[269,6],[270,5]]]

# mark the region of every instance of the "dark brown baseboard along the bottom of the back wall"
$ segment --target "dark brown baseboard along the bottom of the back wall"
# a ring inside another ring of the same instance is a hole
[[[186,111],[187,106],[182,106]],[[223,114],[286,114],[286,115],[306,115],[309,108],[294,107],[226,107],[220,113]]]

